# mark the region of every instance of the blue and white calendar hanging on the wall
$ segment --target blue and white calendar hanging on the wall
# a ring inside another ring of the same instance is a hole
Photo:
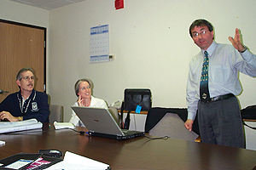
[[[90,28],[90,63],[109,61],[108,25]]]

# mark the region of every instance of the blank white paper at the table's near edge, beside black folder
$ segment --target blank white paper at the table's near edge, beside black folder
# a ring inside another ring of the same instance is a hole
[[[65,153],[64,160],[56,163],[55,165],[46,168],[47,170],[55,170],[55,169],[93,169],[93,170],[100,170],[100,169],[110,169],[109,165],[106,163],[102,163],[100,161],[95,161],[90,158],[79,156],[77,154],[73,154],[69,151]]]

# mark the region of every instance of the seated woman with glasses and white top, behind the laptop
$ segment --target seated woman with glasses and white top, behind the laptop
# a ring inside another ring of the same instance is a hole
[[[97,99],[91,95],[92,82],[89,79],[83,78],[78,80],[74,88],[76,95],[79,97],[74,106],[108,108],[108,105],[103,99]],[[75,126],[85,127],[84,123],[80,121],[79,116],[74,111],[69,122]]]

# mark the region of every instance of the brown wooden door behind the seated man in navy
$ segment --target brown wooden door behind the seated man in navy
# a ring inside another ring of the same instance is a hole
[[[45,92],[46,28],[0,20],[0,102],[19,91],[16,75],[23,67],[32,67],[37,77],[35,89]]]

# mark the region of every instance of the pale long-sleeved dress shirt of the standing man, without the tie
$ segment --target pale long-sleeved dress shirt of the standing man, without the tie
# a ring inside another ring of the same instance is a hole
[[[207,48],[209,54],[208,83],[210,98],[224,94],[241,94],[238,71],[256,77],[256,57],[248,50],[239,53],[233,46],[212,42]],[[200,99],[201,67],[204,50],[189,63],[187,82],[188,119],[195,120],[198,100]]]

